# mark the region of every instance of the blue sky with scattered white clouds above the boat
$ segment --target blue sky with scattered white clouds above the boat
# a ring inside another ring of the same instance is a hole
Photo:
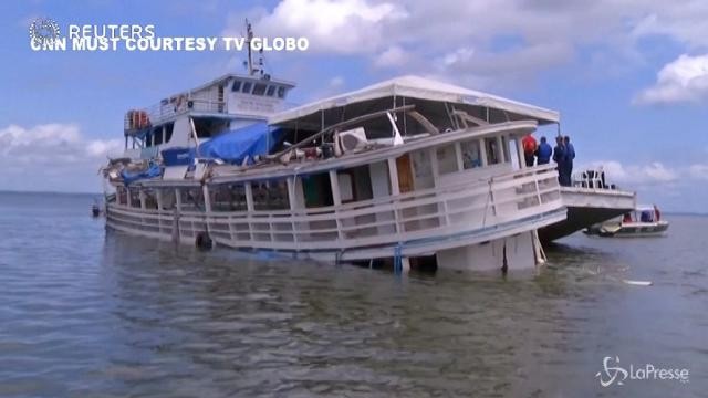
[[[157,36],[240,36],[248,18],[257,35],[309,39],[266,54],[298,83],[292,104],[405,74],[508,96],[561,113],[576,170],[602,165],[639,202],[708,212],[705,0],[3,1],[0,190],[98,192],[127,109],[244,72],[236,51],[33,51],[37,18]]]

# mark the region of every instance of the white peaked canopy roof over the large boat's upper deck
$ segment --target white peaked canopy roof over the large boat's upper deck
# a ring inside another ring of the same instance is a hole
[[[269,122],[283,124],[321,111],[388,97],[408,97],[500,109],[514,114],[514,119],[531,118],[540,124],[560,122],[560,114],[556,111],[414,75],[392,78],[357,91],[294,107],[271,116]]]

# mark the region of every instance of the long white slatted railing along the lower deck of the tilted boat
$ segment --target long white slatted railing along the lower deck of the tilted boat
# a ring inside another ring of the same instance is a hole
[[[436,235],[475,233],[562,208],[552,166],[518,170],[486,181],[425,189],[316,209],[197,212],[140,210],[113,203],[108,220],[155,235],[183,240],[199,232],[219,243],[278,250],[345,250]]]

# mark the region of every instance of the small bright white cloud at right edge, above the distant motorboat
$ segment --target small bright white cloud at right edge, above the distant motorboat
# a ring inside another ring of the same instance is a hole
[[[656,84],[635,97],[637,104],[668,104],[699,102],[708,98],[708,54],[683,54],[666,64],[658,73]]]

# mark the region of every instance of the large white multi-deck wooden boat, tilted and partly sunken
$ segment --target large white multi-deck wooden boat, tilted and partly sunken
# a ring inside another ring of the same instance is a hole
[[[251,67],[128,112],[107,228],[398,268],[542,259],[535,231],[565,208],[521,137],[556,112],[415,76],[280,111],[293,86]]]

